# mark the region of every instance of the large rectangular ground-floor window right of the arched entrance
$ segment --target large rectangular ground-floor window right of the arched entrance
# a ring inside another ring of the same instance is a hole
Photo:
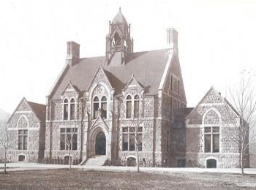
[[[135,127],[123,127],[122,128],[122,151],[135,151]],[[138,150],[142,151],[143,143],[143,128],[138,127],[137,140],[138,140]]]

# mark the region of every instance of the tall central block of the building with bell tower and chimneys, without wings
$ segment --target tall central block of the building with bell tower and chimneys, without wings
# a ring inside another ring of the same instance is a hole
[[[178,33],[167,29],[167,49],[134,53],[130,30],[119,10],[109,23],[105,56],[80,58],[80,45],[67,42],[66,64],[46,101],[46,159],[64,159],[70,140],[72,159],[82,164],[95,155],[127,164],[136,155],[130,123],[138,120],[140,162],[167,166],[175,157],[173,113],[187,106]]]

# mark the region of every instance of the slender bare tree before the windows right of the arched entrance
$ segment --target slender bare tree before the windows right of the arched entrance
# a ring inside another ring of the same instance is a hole
[[[136,151],[136,167],[137,171],[140,172],[140,158],[139,151],[142,150],[142,132],[143,128],[141,124],[143,123],[143,114],[140,112],[140,101],[139,98],[135,99],[133,109],[132,107],[127,107],[127,101],[120,101],[121,110],[123,113],[126,113],[127,120],[123,120],[121,123],[127,128],[128,141],[134,140],[134,149]],[[128,110],[129,109],[129,110]],[[133,111],[133,113],[132,113]],[[124,114],[123,114],[124,117]],[[123,132],[124,133],[124,132]],[[132,145],[129,144],[130,147]],[[127,147],[129,149],[130,147]]]

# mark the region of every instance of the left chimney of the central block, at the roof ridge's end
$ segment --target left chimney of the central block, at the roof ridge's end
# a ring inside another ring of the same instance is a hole
[[[73,66],[80,58],[80,45],[76,42],[67,42],[67,64]]]

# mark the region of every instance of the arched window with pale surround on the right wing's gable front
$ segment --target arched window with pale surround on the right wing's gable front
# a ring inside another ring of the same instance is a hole
[[[206,113],[203,123],[205,153],[219,153],[219,115],[210,110]]]

